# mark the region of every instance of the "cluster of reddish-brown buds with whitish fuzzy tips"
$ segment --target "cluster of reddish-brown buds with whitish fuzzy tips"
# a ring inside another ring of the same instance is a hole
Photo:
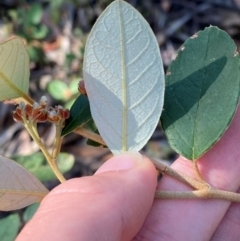
[[[35,123],[50,121],[55,124],[63,124],[69,118],[69,110],[60,105],[55,108],[47,108],[47,98],[45,96],[42,96],[39,103],[35,102],[33,105],[20,102],[12,114],[15,121],[22,123],[25,121]]]

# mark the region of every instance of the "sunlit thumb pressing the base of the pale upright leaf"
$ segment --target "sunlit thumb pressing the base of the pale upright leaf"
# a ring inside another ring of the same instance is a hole
[[[152,205],[156,174],[140,154],[115,156],[51,191],[17,241],[130,240]]]

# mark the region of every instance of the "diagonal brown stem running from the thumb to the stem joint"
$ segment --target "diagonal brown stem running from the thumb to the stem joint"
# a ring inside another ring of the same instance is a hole
[[[206,188],[206,184],[199,182],[198,180],[195,180],[189,176],[186,176],[184,174],[178,173],[176,172],[174,169],[172,169],[171,167],[168,167],[167,165],[161,163],[160,161],[156,161],[154,159],[151,159],[151,161],[153,162],[153,164],[155,165],[155,167],[157,168],[157,170],[159,170],[161,173],[166,174],[170,177],[173,177],[177,180],[179,180],[180,182],[183,182],[195,189],[204,189]]]

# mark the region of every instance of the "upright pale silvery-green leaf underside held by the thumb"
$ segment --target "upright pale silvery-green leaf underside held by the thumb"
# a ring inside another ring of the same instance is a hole
[[[128,3],[114,1],[92,28],[84,80],[93,119],[110,150],[139,151],[160,117],[164,72],[151,28]]]

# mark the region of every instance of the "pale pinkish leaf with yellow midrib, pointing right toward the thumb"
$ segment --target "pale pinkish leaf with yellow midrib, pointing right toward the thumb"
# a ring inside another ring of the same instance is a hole
[[[0,156],[0,210],[9,211],[40,202],[48,190],[16,162]]]

